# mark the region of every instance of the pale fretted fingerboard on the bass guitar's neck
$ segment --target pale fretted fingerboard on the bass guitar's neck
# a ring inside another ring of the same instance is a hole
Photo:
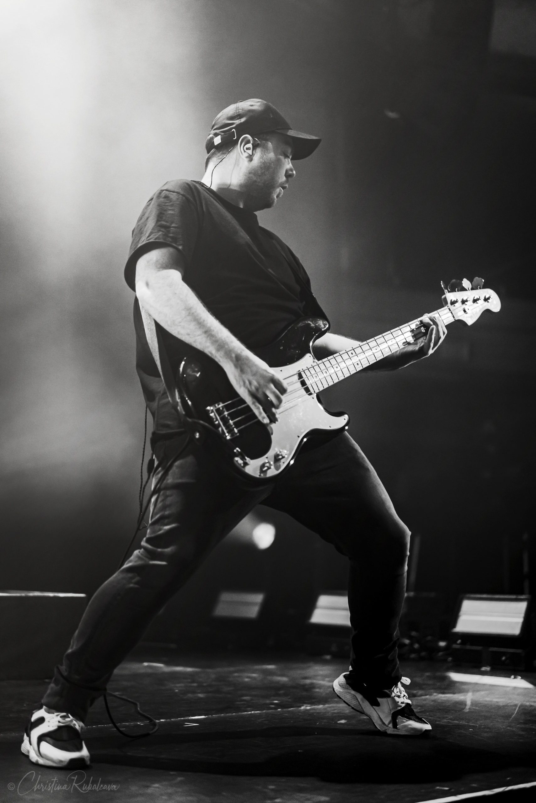
[[[439,315],[444,324],[450,324],[456,320],[448,307],[438,309],[435,313],[432,312],[432,315]],[[313,393],[319,393],[329,385],[335,385],[342,379],[366,368],[367,365],[372,365],[383,357],[395,353],[403,345],[414,343],[413,332],[419,326],[419,319],[411,320],[408,324],[391,329],[378,337],[371,337],[370,340],[365,340],[347,351],[338,352],[332,357],[325,357],[310,368],[303,369],[301,374]]]

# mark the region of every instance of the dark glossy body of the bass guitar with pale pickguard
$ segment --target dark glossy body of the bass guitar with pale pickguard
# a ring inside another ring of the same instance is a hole
[[[346,414],[331,414],[302,378],[304,369],[317,364],[311,347],[328,324],[320,318],[303,318],[292,324],[273,344],[257,351],[288,385],[278,410],[279,421],[265,425],[227,379],[223,368],[199,352],[186,357],[178,371],[178,391],[187,418],[203,422],[215,437],[205,442],[227,454],[240,475],[262,481],[280,475],[292,465],[305,440],[324,440],[346,430]]]

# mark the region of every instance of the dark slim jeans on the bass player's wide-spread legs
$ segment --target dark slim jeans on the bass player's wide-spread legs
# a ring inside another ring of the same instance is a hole
[[[185,438],[155,446],[153,487]],[[373,467],[344,433],[302,451],[284,475],[252,490],[187,443],[153,499],[140,548],[89,601],[43,705],[84,721],[153,617],[260,502],[290,514],[350,559],[352,670],[376,689],[398,683],[410,534]]]

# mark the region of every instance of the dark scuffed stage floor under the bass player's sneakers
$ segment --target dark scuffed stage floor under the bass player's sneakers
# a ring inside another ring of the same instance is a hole
[[[92,784],[88,797],[116,803],[418,803],[536,781],[536,675],[522,673],[525,687],[488,685],[449,675],[476,680],[477,670],[406,662],[408,694],[433,730],[403,738],[378,732],[335,697],[331,684],[346,668],[327,657],[141,646],[110,690],[137,699],[161,720],[158,732],[125,739],[98,701],[85,735],[92,765],[76,777],[20,752],[45,682],[4,681],[0,800],[72,801]],[[489,674],[520,683],[508,671]],[[118,724],[140,730],[132,707],[110,704]],[[536,800],[536,788],[527,791],[523,799]]]

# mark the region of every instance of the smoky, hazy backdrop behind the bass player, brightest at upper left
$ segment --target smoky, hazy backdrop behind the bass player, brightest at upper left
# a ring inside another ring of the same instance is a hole
[[[534,535],[534,4],[0,9],[0,586],[92,593],[115,569],[143,441],[130,232],[165,181],[202,176],[217,112],[261,97],[322,137],[260,220],[305,264],[333,331],[365,339],[431,312],[441,279],[481,275],[501,296],[497,316],[453,325],[430,360],[355,377],[325,402],[350,413],[423,536],[418,589],[521,593],[522,534]],[[289,520],[276,527],[283,586],[298,593],[308,573],[343,586],[340,556]],[[215,577],[210,560],[198,583]]]

